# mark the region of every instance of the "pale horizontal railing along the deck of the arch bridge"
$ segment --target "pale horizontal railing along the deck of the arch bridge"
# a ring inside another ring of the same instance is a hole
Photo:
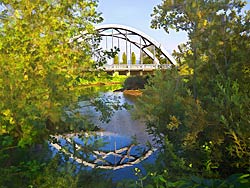
[[[104,65],[106,71],[152,71],[156,69],[169,69],[170,64],[112,64]]]

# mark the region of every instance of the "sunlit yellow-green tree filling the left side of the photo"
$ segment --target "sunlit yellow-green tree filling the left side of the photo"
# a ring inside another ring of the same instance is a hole
[[[69,112],[77,105],[78,79],[86,77],[83,69],[96,66],[90,43],[70,39],[80,32],[94,32],[92,24],[102,20],[97,2],[2,1],[0,168],[6,181],[10,178],[13,183],[25,165],[36,167],[30,161],[26,164],[28,153],[23,158],[20,153],[25,156],[30,148],[47,143],[49,135],[69,128],[66,109]]]

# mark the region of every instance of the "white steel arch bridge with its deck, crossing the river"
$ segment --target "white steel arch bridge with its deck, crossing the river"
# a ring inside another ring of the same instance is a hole
[[[104,65],[104,68],[107,72],[115,72],[115,71],[153,71],[155,69],[167,69],[171,66],[176,66],[177,63],[175,59],[167,52],[167,50],[156,40],[152,37],[148,36],[147,34],[133,28],[128,27],[125,25],[119,24],[104,24],[95,26],[95,31],[97,34],[102,37],[106,38],[106,48],[107,48],[107,37],[111,37],[111,46],[112,49],[115,47],[114,39],[118,40],[118,48],[119,48],[119,41],[123,40],[126,42],[126,56],[128,56],[128,49],[130,44],[130,57],[131,57],[131,44],[133,44],[136,48],[140,50],[140,63],[139,64],[112,64],[112,65]],[[81,36],[85,35],[86,33],[82,33],[81,35],[77,36],[75,39],[80,39]],[[151,51],[149,50],[151,48]],[[152,52],[153,51],[153,52]],[[159,59],[156,57],[156,51],[160,52],[164,58],[167,59],[168,63],[160,64]],[[143,64],[143,57],[142,53],[145,53],[148,57],[153,60],[153,64]],[[128,59],[128,58],[127,58]]]

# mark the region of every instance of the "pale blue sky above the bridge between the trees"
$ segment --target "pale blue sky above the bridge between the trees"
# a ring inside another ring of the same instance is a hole
[[[144,32],[172,53],[181,43],[187,41],[184,32],[150,28],[153,7],[161,4],[162,0],[99,0],[98,11],[102,12],[104,21],[101,24],[121,24]],[[250,8],[248,0],[247,9]]]

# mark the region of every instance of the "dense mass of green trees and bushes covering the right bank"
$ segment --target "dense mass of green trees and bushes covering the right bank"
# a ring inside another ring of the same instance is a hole
[[[148,129],[161,138],[168,170],[208,177],[248,172],[250,17],[244,6],[165,0],[154,9],[152,27],[183,30],[189,37],[175,52],[186,74],[154,77],[138,105]]]

